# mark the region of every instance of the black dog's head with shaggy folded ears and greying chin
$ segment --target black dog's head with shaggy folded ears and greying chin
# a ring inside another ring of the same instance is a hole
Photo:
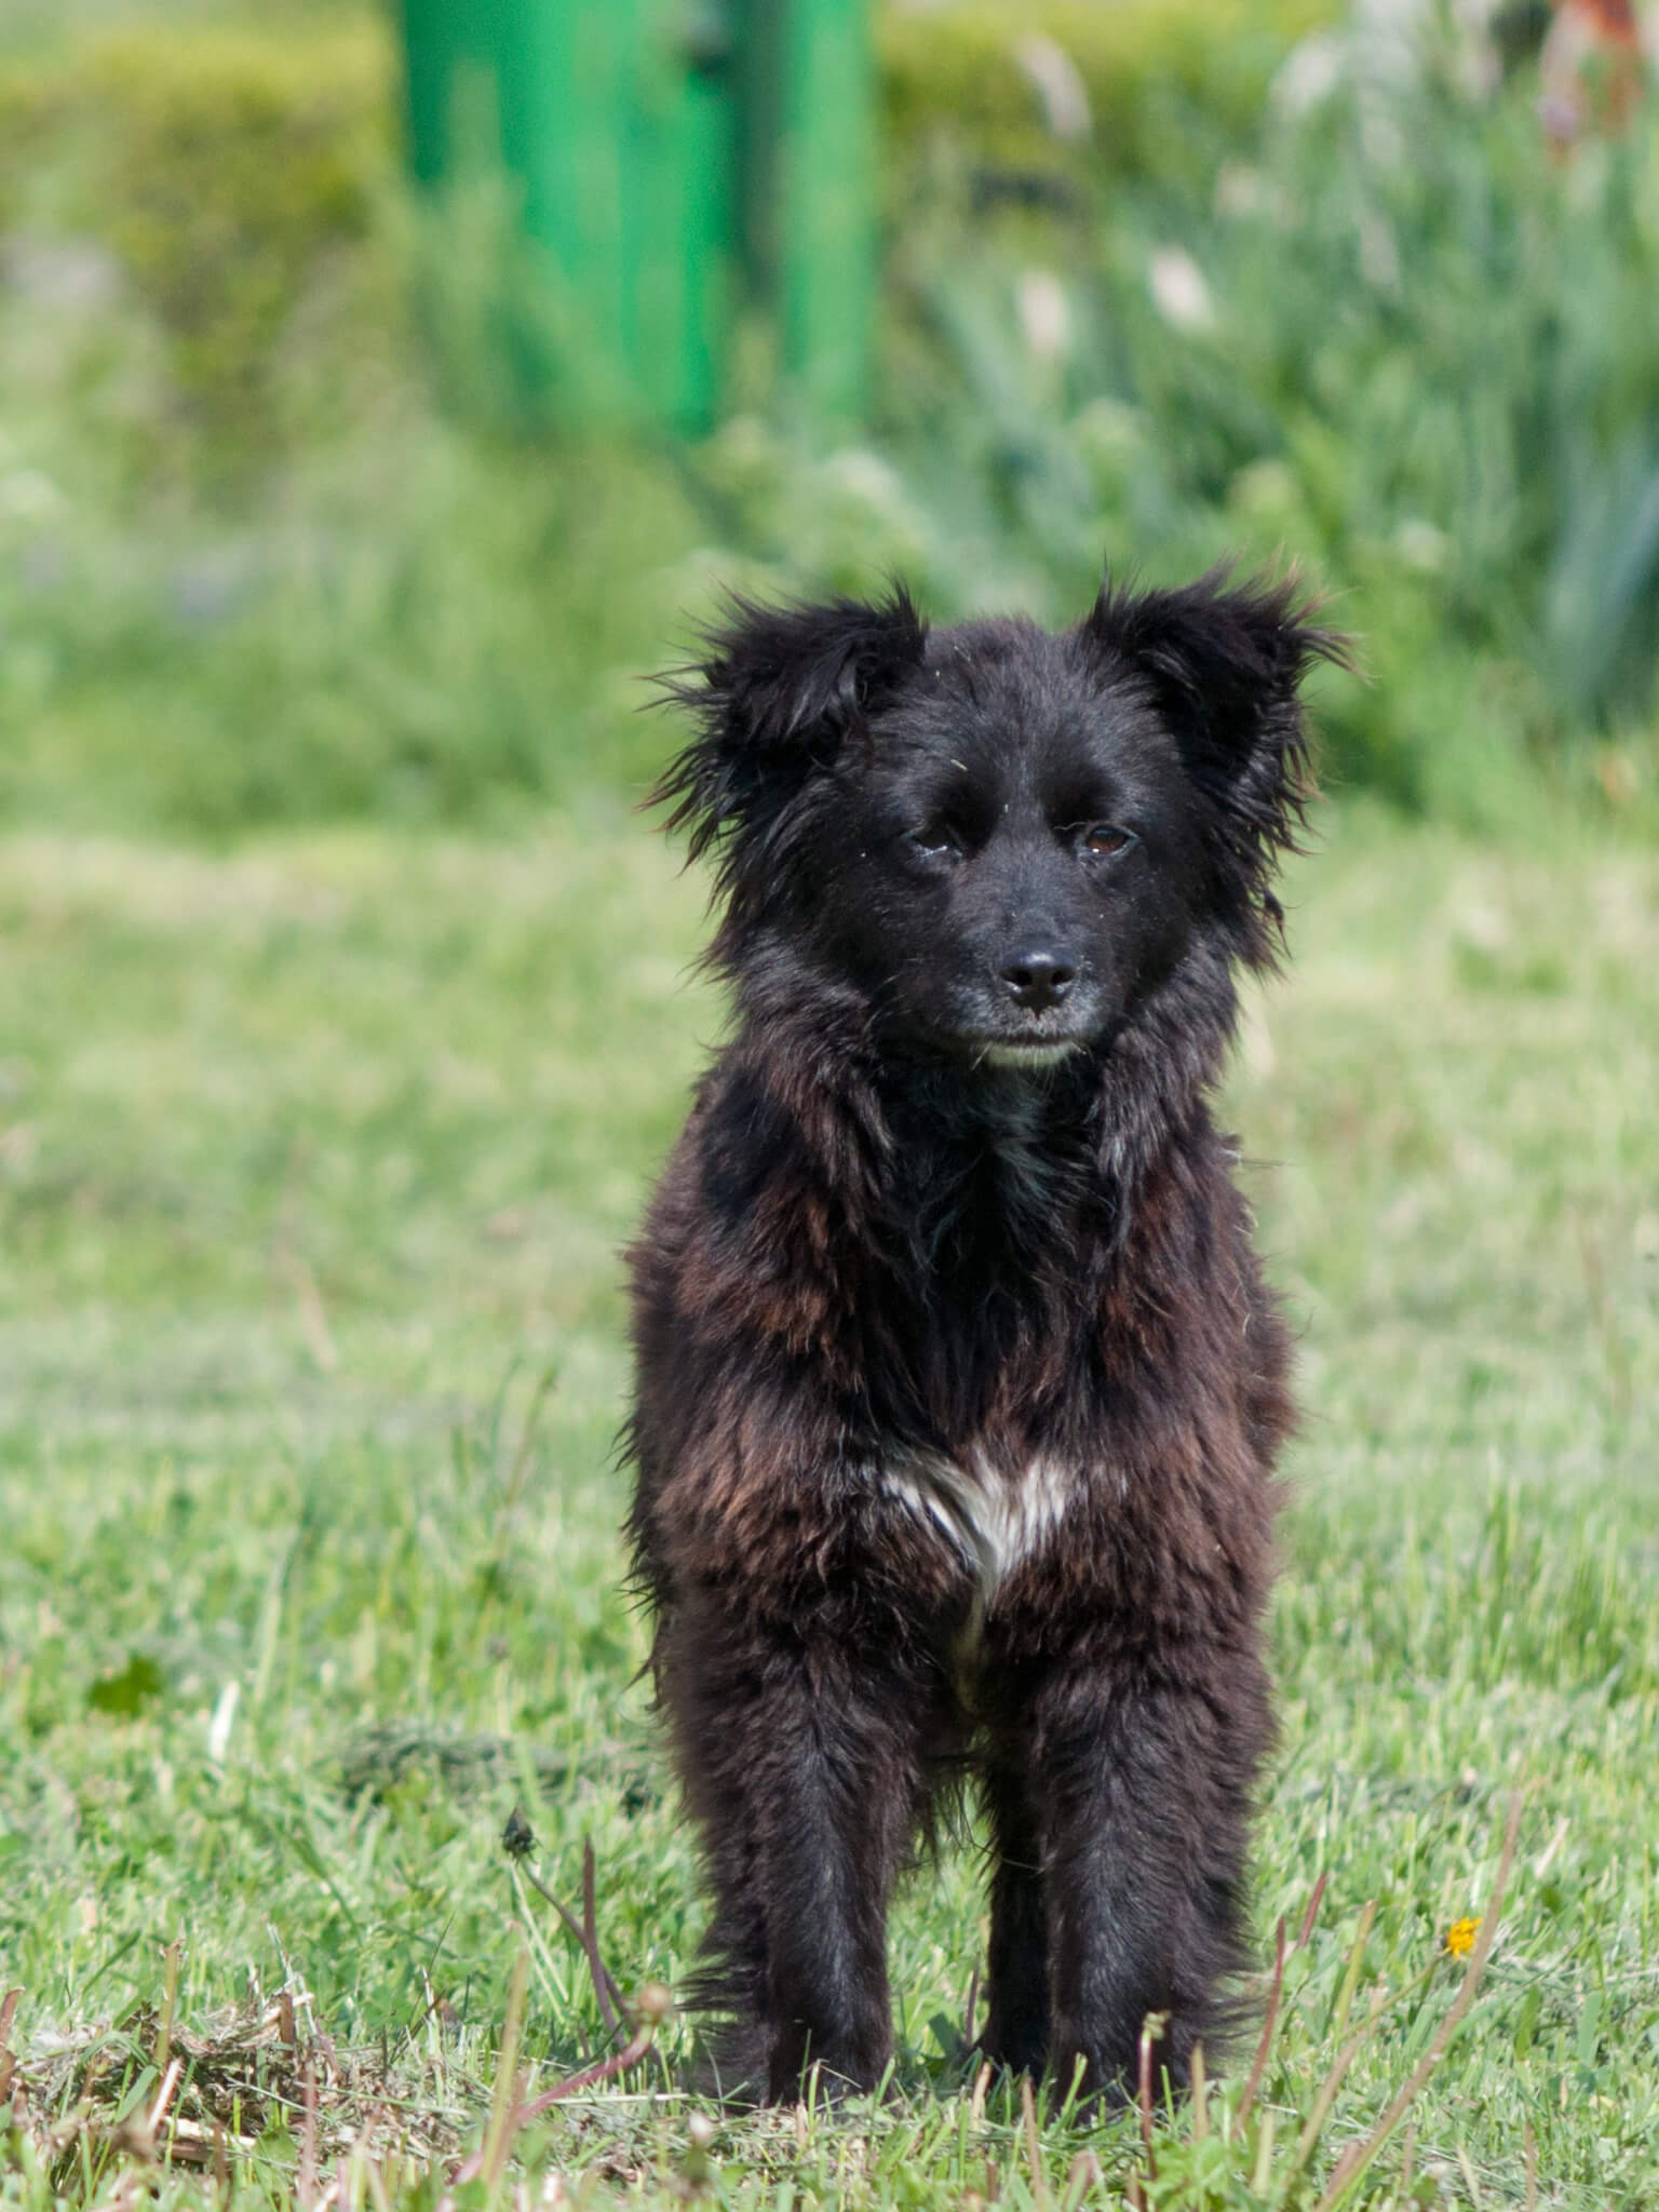
[[[1110,1037],[1206,936],[1267,964],[1307,794],[1298,684],[1340,657],[1290,586],[1106,588],[1082,624],[929,633],[880,604],[734,604],[670,681],[664,776],[717,847],[714,958],[834,975],[880,1031],[991,1064]]]

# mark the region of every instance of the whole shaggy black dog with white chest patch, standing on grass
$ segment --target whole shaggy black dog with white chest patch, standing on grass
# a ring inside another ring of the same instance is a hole
[[[1305,794],[1290,588],[739,604],[672,827],[737,998],[633,1250],[633,1540],[723,2081],[869,2088],[971,1759],[987,2053],[1181,2084],[1241,1964],[1287,1340],[1208,1093]]]

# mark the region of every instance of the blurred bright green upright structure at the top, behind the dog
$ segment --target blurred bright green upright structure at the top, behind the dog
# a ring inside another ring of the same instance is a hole
[[[737,268],[825,416],[869,380],[867,0],[403,0],[416,177],[442,179],[456,80],[493,80],[498,153],[568,310],[571,392],[706,429]],[[739,190],[741,170],[741,190]]]

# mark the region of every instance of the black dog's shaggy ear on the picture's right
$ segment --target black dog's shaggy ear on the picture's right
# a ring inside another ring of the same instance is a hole
[[[1148,686],[1206,801],[1214,887],[1245,960],[1274,956],[1283,914],[1270,891],[1314,796],[1301,681],[1314,661],[1347,666],[1294,582],[1230,584],[1217,568],[1179,591],[1102,586],[1084,637]]]

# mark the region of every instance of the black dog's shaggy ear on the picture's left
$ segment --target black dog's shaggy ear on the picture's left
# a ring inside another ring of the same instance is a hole
[[[701,655],[661,677],[697,734],[670,761],[648,805],[668,805],[692,860],[717,838],[763,830],[849,730],[878,712],[922,664],[927,626],[896,584],[891,597],[757,606],[732,599]]]

